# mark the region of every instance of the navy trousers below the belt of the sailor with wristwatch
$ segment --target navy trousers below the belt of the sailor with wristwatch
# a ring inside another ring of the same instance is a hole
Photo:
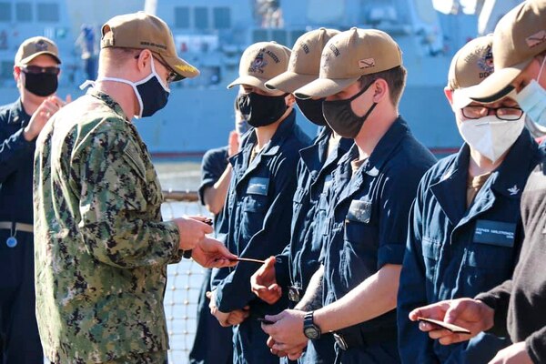
[[[389,340],[370,346],[359,346],[347,350],[336,344],[335,364],[399,364],[398,343]]]

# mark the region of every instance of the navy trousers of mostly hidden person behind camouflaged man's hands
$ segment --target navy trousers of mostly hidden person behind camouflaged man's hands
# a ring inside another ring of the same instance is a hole
[[[211,273],[212,269],[207,269],[199,292],[197,330],[189,353],[190,364],[229,364],[233,359],[232,329],[222,328],[208,308],[206,294],[210,290]]]

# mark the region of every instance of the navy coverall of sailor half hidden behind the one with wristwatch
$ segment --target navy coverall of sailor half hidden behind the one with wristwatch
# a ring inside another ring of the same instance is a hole
[[[331,172],[353,144],[352,139],[341,138],[338,147],[328,156],[329,127],[324,127],[312,146],[299,151],[298,187],[292,201],[292,227],[290,244],[277,256],[275,271],[277,282],[288,291],[288,286],[305,292],[313,273],[320,266],[324,228],[327,225],[327,190]],[[290,308],[296,305],[291,302]],[[335,353],[331,334],[309,341],[308,349],[298,359],[299,363],[330,364]]]

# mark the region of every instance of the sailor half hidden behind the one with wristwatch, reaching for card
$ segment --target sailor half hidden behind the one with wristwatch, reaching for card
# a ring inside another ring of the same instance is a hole
[[[269,80],[266,87],[293,93],[319,78],[320,55],[324,45],[338,34],[338,30],[319,28],[301,35],[292,49],[288,70]],[[332,132],[322,115],[322,101],[324,98],[296,99],[303,116],[321,129],[313,145],[299,152],[298,187],[292,202],[290,242],[282,254],[268,258],[266,264],[253,275],[251,282],[257,296],[270,304],[277,302],[283,293],[288,294],[288,308],[313,307],[312,302],[304,307],[299,302],[309,279],[320,266],[331,171],[352,145],[352,139]],[[298,361],[331,363],[333,359],[333,337],[325,334],[309,345]]]

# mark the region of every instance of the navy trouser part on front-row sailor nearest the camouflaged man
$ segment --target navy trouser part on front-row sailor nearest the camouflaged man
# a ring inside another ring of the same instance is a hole
[[[268,348],[268,334],[252,316],[233,327],[234,364],[278,364]]]

